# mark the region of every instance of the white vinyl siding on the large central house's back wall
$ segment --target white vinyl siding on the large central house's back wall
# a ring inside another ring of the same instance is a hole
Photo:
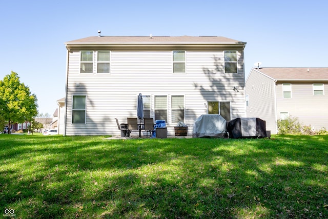
[[[192,134],[194,120],[207,113],[204,106],[207,101],[229,101],[232,118],[245,116],[241,49],[237,55],[238,74],[223,74],[221,70],[226,48],[101,48],[104,49],[111,50],[110,74],[80,74],[79,50],[69,52],[67,135],[119,135],[114,118],[122,123],[127,122],[127,117],[136,117],[139,93],[151,95],[152,117],[154,96],[168,96],[169,126],[176,125],[171,123],[171,96],[185,96],[185,123],[190,127],[189,134]],[[173,74],[172,50],[186,51],[186,74]],[[233,91],[233,86],[239,92]],[[86,124],[72,124],[73,95],[87,96]],[[168,128],[168,132],[174,134],[174,129]]]

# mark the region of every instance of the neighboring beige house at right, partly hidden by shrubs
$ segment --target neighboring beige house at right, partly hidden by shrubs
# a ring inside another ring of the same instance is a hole
[[[253,68],[245,83],[246,114],[267,122],[297,117],[303,125],[328,129],[328,68]]]

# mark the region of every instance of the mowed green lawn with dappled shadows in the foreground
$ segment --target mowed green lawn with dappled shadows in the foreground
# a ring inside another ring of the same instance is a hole
[[[14,210],[14,218],[328,218],[328,135],[105,137],[1,134],[0,211]]]

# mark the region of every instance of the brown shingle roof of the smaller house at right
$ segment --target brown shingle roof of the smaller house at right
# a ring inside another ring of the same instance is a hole
[[[328,68],[253,68],[277,81],[328,81]]]

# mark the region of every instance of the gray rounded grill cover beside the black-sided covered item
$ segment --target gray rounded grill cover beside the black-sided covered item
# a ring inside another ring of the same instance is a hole
[[[194,123],[193,137],[224,137],[227,133],[227,122],[218,114],[204,114]]]

